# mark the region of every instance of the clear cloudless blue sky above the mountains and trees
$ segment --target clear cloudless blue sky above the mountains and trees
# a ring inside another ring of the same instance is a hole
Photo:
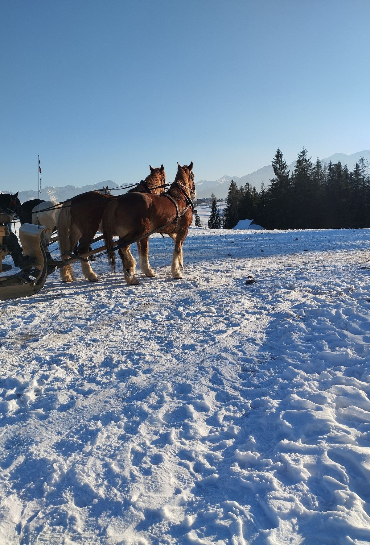
[[[370,2],[2,0],[0,191],[370,148]]]

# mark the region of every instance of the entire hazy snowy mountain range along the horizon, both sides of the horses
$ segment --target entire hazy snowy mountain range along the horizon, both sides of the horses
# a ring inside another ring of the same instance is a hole
[[[338,161],[341,161],[342,165],[346,164],[349,169],[353,169],[356,162],[360,161],[360,157],[363,157],[364,159],[370,160],[370,151],[364,150],[362,152],[356,152],[352,155],[346,155],[344,153],[335,153],[334,155],[331,155],[330,157],[327,157],[325,159],[322,159],[322,162],[325,162],[326,164],[329,163],[329,161],[333,163],[337,163]],[[288,169],[292,172],[294,170],[296,161],[293,161],[290,165],[288,165]],[[247,181],[251,184],[252,187],[256,187],[257,191],[261,190],[261,184],[264,182],[264,185],[267,187],[269,184],[269,180],[274,178],[274,171],[273,167],[271,165],[264,166],[262,168],[259,168],[255,172],[251,172],[250,174],[245,174],[242,177],[238,176],[228,176],[225,175],[222,178],[219,178],[218,180],[200,180],[195,183],[196,186],[196,192],[198,198],[206,198],[211,197],[211,193],[214,193],[214,195],[217,198],[226,198],[227,192],[229,191],[229,184],[231,180],[234,180],[237,185],[244,185]],[[46,186],[41,189],[40,192],[40,198],[45,201],[66,201],[67,199],[74,197],[75,195],[79,195],[80,193],[84,193],[86,191],[94,191],[96,189],[103,189],[103,186],[109,186],[109,189],[114,190],[115,187],[120,187],[114,181],[112,180],[106,180],[102,181],[100,183],[94,184],[94,185],[84,185],[83,187],[76,187],[74,185],[66,185],[63,187],[52,187],[52,186]],[[5,191],[5,193],[10,193],[11,191]],[[119,191],[113,191],[113,194],[118,194]],[[36,199],[38,198],[38,192],[29,190],[29,191],[20,191],[18,195],[21,202],[28,201],[29,199]]]

